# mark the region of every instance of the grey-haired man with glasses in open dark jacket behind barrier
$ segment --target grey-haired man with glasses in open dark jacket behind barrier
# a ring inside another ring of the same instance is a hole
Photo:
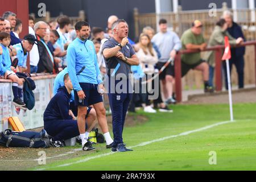
[[[47,44],[44,42],[44,36],[46,36],[47,24],[46,22],[37,22],[34,26],[36,39],[38,40],[38,52],[39,52],[39,63],[38,63],[38,73],[55,73],[53,70],[54,59],[51,51],[49,50]]]

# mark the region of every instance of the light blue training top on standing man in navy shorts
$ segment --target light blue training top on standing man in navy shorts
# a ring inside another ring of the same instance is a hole
[[[73,88],[82,90],[80,82],[88,84],[101,84],[102,78],[98,67],[97,55],[90,40],[73,40],[67,50],[68,74]]]

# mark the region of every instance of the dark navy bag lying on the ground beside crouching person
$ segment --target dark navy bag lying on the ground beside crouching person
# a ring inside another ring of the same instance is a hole
[[[41,132],[16,132],[7,129],[0,133],[0,145],[5,147],[48,148],[49,138],[46,137],[46,130]]]

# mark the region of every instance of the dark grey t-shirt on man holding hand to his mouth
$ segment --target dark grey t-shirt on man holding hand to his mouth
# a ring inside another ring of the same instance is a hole
[[[113,48],[117,46],[119,43],[114,38],[111,38],[107,40],[102,47],[102,51],[104,51],[105,48]],[[130,58],[131,56],[135,55],[135,51],[131,44],[126,44],[126,46],[123,46],[122,49],[119,50],[123,53],[126,57]],[[110,57],[109,59],[105,59],[106,63],[106,69],[108,76],[116,76],[118,73],[124,73],[127,78],[129,76],[129,73],[131,73],[131,66],[118,57]]]

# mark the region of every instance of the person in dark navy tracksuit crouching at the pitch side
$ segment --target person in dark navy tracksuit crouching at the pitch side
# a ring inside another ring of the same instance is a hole
[[[69,109],[73,85],[68,73],[64,76],[64,84],[65,86],[59,88],[44,111],[44,129],[52,137],[53,147],[63,147],[64,140],[80,134],[76,118]]]

